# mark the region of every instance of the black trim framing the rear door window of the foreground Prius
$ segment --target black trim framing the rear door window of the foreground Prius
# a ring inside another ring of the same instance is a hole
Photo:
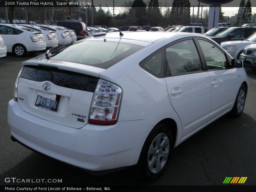
[[[198,52],[198,56],[199,56],[199,59],[200,59],[201,65],[202,65],[202,71],[191,71],[191,72],[187,72],[187,73],[179,73],[179,74],[174,74],[174,75],[166,75],[166,68],[167,68],[167,62],[166,62],[166,48],[172,46],[173,44],[176,44],[176,43],[179,43],[179,42],[182,42],[182,41],[186,41],[186,40],[191,40],[191,39],[194,41],[196,50],[197,50],[197,52]],[[202,72],[205,72],[205,71],[206,71],[205,65],[204,65],[203,60],[202,60],[202,58],[201,58],[201,54],[200,54],[200,52],[199,52],[199,50],[198,50],[198,47],[197,47],[197,44],[196,44],[196,41],[195,41],[194,37],[186,37],[186,38],[178,39],[178,40],[176,40],[176,41],[173,41],[172,43],[169,43],[169,44],[165,45],[165,46],[164,46],[164,53],[165,53],[164,77],[188,75],[188,74],[194,74],[194,73],[202,73]]]

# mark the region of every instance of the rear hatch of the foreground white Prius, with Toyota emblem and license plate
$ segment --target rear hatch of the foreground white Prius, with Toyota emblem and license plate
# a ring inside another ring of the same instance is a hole
[[[23,65],[17,94],[24,111],[74,128],[87,124],[99,73],[105,69],[49,60]]]

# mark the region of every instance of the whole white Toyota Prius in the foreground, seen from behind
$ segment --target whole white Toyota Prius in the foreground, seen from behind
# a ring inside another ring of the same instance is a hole
[[[242,60],[195,33],[124,32],[23,62],[8,105],[13,141],[95,173],[137,166],[158,178],[172,149],[242,114]]]

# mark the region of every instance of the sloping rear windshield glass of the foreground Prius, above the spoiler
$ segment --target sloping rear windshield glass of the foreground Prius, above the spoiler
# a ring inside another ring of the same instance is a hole
[[[83,41],[69,46],[51,59],[107,69],[142,48],[140,45],[120,42]]]

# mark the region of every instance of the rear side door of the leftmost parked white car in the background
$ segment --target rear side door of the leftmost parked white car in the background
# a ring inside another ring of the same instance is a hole
[[[7,51],[12,52],[12,44],[16,41],[15,29],[12,27],[0,25],[0,33],[4,39]]]

